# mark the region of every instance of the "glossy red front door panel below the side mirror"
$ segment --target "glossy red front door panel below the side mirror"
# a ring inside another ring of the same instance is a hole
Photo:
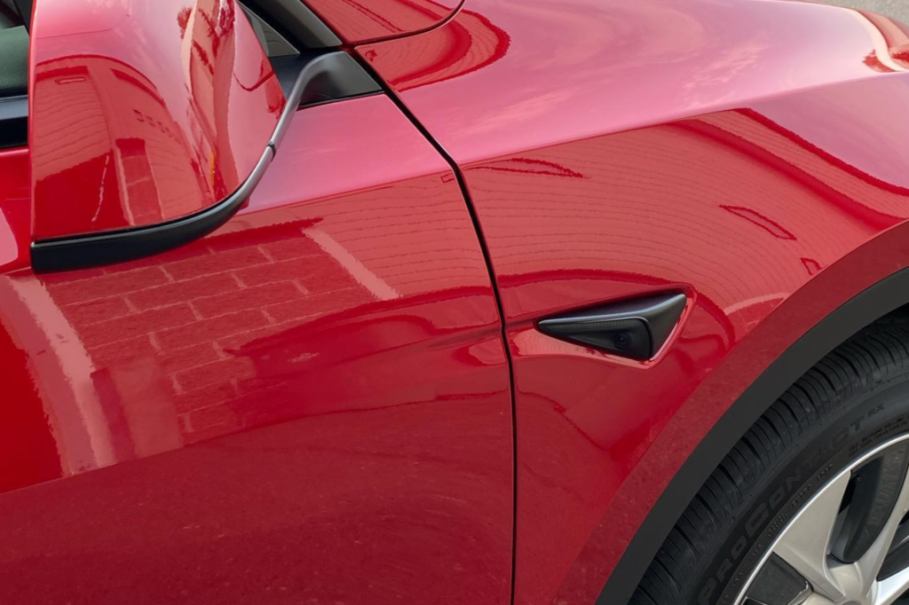
[[[493,289],[387,97],[298,112],[196,243],[0,276],[0,326],[0,601],[508,602]]]

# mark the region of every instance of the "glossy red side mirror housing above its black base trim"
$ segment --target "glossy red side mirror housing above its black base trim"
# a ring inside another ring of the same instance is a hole
[[[220,202],[285,103],[234,0],[42,0],[30,60],[35,239]]]

